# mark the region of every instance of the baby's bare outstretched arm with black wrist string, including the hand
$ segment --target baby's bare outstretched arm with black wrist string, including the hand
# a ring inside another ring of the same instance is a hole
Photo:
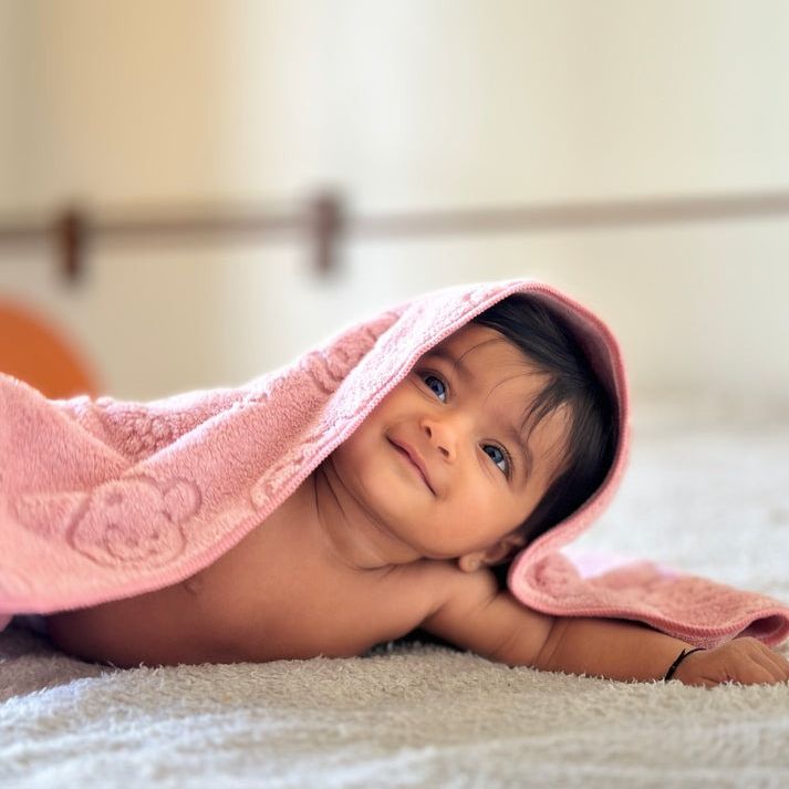
[[[557,617],[500,592],[488,570],[461,573],[444,565],[443,602],[422,626],[447,641],[511,666],[622,681],[662,679],[691,645],[646,625],[621,620]],[[755,639],[694,652],[675,678],[688,685],[789,679],[789,662]]]

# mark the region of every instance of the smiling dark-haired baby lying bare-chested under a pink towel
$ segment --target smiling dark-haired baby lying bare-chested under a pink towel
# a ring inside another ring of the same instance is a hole
[[[508,562],[603,482],[616,406],[553,311],[499,302],[416,363],[262,523],[186,581],[46,617],[117,666],[364,654],[415,629],[511,666],[693,685],[789,679],[760,642],[553,617]]]

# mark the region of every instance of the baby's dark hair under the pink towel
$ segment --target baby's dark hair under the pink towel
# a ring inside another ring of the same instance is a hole
[[[616,403],[599,380],[567,321],[534,297],[511,295],[473,323],[516,345],[548,384],[530,404],[530,429],[561,405],[570,411],[567,458],[519,531],[531,542],[572,515],[602,485],[619,439]],[[491,568],[500,588],[513,557]]]

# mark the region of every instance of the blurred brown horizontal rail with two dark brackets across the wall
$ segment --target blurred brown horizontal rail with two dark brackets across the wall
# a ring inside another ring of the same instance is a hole
[[[0,222],[2,247],[50,242],[69,281],[83,271],[86,250],[95,240],[304,238],[314,268],[336,268],[344,237],[398,239],[496,232],[540,232],[623,228],[679,222],[744,220],[789,215],[789,191],[724,196],[653,197],[600,203],[562,203],[511,208],[404,211],[388,216],[346,216],[341,197],[319,193],[297,210],[210,210],[127,212],[101,218],[68,206],[50,220]]]

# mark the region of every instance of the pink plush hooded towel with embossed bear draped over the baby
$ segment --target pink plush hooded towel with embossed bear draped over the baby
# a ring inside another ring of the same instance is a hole
[[[600,515],[622,476],[627,388],[608,328],[554,288],[526,280],[415,299],[237,388],[152,403],[48,401],[0,375],[0,627],[12,614],[142,594],[210,564],[282,503],[423,353],[517,292],[570,321],[615,394],[622,440],[600,490],[512,563],[512,593],[547,613],[640,620],[703,646],[741,633],[782,641],[789,609],[778,601],[646,562],[595,575],[588,560],[559,552]]]

